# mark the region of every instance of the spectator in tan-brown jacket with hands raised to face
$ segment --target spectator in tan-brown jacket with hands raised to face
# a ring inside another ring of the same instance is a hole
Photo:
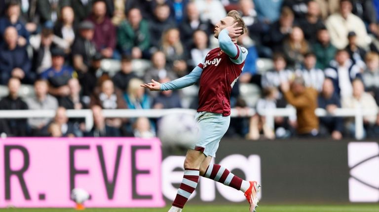
[[[289,82],[286,82],[280,87],[287,102],[296,109],[298,135],[317,136],[319,121],[314,113],[317,108],[317,91],[313,88],[305,88],[301,77],[296,77],[291,86]]]

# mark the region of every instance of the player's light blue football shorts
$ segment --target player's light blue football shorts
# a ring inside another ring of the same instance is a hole
[[[197,112],[196,121],[199,127],[198,140],[193,150],[201,151],[205,156],[216,156],[221,138],[227,132],[230,116],[210,112]]]

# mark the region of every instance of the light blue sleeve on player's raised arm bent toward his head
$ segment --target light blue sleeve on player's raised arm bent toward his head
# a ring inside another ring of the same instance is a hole
[[[230,60],[236,64],[245,61],[248,51],[245,47],[235,45],[229,37],[227,29],[221,30],[219,34],[220,48],[229,56]]]

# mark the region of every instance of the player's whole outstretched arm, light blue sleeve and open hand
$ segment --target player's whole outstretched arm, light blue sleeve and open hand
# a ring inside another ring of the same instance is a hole
[[[195,68],[193,68],[191,73],[179,79],[162,84],[152,80],[151,83],[145,83],[141,85],[141,87],[148,88],[150,89],[150,91],[168,91],[183,89],[199,81],[202,71],[202,68],[196,66]]]

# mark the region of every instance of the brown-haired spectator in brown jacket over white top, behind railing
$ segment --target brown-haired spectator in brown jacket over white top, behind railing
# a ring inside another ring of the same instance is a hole
[[[111,79],[105,79],[99,88],[96,88],[91,96],[90,107],[99,105],[103,109],[127,109],[125,100],[122,96],[122,91],[114,88],[114,84]],[[107,119],[107,123],[110,126],[119,128],[122,122],[126,122],[126,119]]]

